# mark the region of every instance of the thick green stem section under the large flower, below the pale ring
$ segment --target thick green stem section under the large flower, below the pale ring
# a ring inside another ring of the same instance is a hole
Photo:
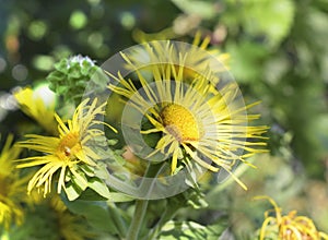
[[[127,235],[128,240],[138,240],[139,238],[139,231],[141,228],[141,225],[143,223],[143,218],[145,215],[145,211],[148,207],[148,200],[137,200],[136,201],[136,209],[134,215]]]

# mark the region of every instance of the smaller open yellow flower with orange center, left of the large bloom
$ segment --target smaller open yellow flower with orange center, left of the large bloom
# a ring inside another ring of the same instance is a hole
[[[85,99],[78,106],[72,119],[68,120],[67,124],[55,113],[59,136],[27,134],[28,139],[19,143],[21,147],[46,154],[19,160],[17,168],[42,166],[28,182],[28,193],[34,188],[42,189],[44,195],[50,193],[56,172],[59,173],[59,176],[56,175],[57,193],[60,193],[62,188],[66,191],[66,181],[71,177],[86,184],[86,180],[80,172],[83,172],[83,166],[96,166],[95,160],[99,158],[87,143],[93,137],[103,134],[99,129],[94,128],[95,124],[106,124],[95,120],[96,116],[105,113],[103,110],[105,104],[97,107],[97,99],[94,99],[91,105],[87,103],[89,99]]]

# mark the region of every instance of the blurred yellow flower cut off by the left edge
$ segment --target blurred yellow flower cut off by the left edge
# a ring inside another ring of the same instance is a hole
[[[20,155],[20,148],[11,146],[13,135],[9,135],[0,155],[0,224],[9,229],[14,221],[21,225],[23,209],[20,205],[25,194],[26,178],[20,178],[13,160]]]

